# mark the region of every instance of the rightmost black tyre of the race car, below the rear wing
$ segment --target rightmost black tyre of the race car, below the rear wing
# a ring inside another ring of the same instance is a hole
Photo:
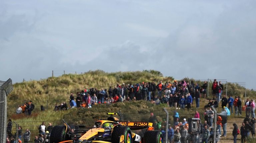
[[[146,131],[143,143],[163,143],[163,134],[160,131]]]

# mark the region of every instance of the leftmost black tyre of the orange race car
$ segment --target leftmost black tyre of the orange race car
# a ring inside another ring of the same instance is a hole
[[[66,139],[66,126],[54,126],[50,135],[50,143],[59,143]]]

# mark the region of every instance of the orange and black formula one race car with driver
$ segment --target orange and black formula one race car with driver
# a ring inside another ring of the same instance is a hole
[[[123,122],[112,116],[117,113],[107,114],[111,115],[107,120],[96,121],[93,128],[79,125],[76,132],[67,124],[54,126],[45,143],[163,143],[163,135],[154,130],[153,123]]]

